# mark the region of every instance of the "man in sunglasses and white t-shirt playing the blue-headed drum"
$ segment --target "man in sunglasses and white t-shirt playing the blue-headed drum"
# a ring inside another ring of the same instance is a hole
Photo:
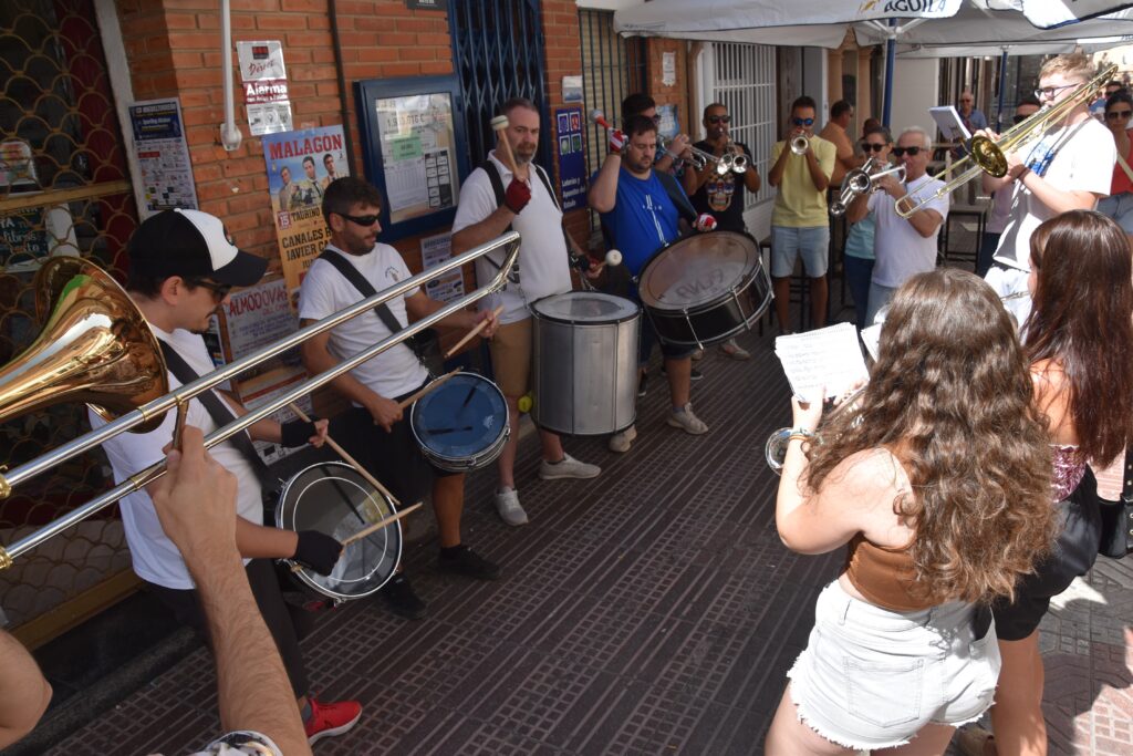
[[[382,230],[377,222],[381,210],[381,193],[361,179],[343,177],[326,187],[323,218],[331,230],[331,243],[303,279],[299,291],[299,320],[303,325],[332,315],[363,298],[358,288],[325,258],[329,255],[339,255],[375,291],[410,278],[398,250],[377,244],[377,235]],[[418,288],[385,303],[385,306],[404,328],[410,318],[427,317],[444,307],[444,303],[429,299]],[[468,330],[483,320],[488,323],[482,333],[491,337],[495,331],[492,311],[454,313],[442,323]],[[382,317],[369,312],[307,339],[301,347],[303,364],[313,375],[323,373],[389,337],[390,329]],[[432,485],[433,510],[441,541],[437,567],[445,572],[494,580],[500,577],[500,568],[461,542],[463,473],[441,470],[425,459],[409,428],[409,408],[402,413],[398,406],[428,381],[428,371],[407,343],[399,343],[334,379],[331,385],[353,405],[340,421],[343,428],[341,442],[406,506],[420,500],[426,487]],[[419,619],[425,614],[425,603],[400,572],[382,588],[382,596],[390,609],[401,617]]]

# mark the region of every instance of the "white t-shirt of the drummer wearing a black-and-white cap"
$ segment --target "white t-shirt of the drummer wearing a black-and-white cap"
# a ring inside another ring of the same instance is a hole
[[[172,333],[165,333],[153,324],[151,328],[157,338],[171,345],[198,375],[205,375],[216,369],[208,356],[204,339],[198,334],[180,329]],[[180,385],[181,382],[170,373],[169,387],[177,389]],[[87,410],[87,416],[94,428],[107,424],[91,410]],[[170,410],[165,413],[165,418],[155,431],[120,433],[107,441],[102,448],[110,459],[110,466],[114,469],[114,482],[121,483],[130,475],[164,459],[165,456],[161,450],[172,440],[176,423],[177,413]],[[208,415],[208,410],[196,398],[189,400],[186,423],[201,428],[206,436],[219,427]],[[216,444],[208,453],[236,476],[237,515],[249,523],[263,525],[263,495],[259,490],[259,481],[248,460],[228,441]],[[134,561],[134,571],[137,572],[138,577],[167,588],[191,588],[193,579],[181,560],[181,552],[162,530],[150,494],[144,490],[131,493],[120,501],[119,507],[122,512],[122,529],[126,532],[126,542],[129,544],[130,557]],[[247,561],[245,560],[245,563]]]

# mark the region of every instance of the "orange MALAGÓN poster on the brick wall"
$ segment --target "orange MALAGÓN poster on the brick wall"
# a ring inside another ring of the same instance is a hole
[[[279,240],[283,279],[292,307],[299,283],[326,246],[323,192],[337,178],[349,176],[341,126],[269,134],[263,138],[267,190]]]

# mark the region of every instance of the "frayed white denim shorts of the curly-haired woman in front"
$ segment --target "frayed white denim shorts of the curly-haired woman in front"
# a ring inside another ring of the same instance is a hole
[[[894,612],[835,580],[787,672],[799,719],[857,750],[903,746],[927,724],[974,722],[995,696],[999,646],[991,628],[977,639],[973,614],[961,602]]]

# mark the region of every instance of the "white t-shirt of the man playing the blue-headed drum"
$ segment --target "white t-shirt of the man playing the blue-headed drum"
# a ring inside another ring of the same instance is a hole
[[[410,277],[406,261],[387,244],[375,244],[365,255],[351,255],[333,245],[327,245],[326,248],[346,257],[376,291],[389,289]],[[402,328],[409,324],[404,297],[411,297],[418,291],[420,287],[385,303]],[[358,304],[363,298],[361,292],[333,263],[316,260],[299,289],[299,317],[318,321]],[[389,337],[390,329],[385,328],[377,313],[368,312],[331,329],[327,348],[331,355],[343,360]],[[428,371],[404,342],[363,363],[350,371],[350,374],[387,399],[409,393],[428,377]]]

